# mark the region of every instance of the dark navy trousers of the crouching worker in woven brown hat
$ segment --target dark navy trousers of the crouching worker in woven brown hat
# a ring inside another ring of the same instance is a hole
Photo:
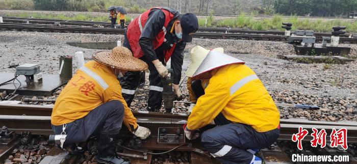
[[[123,122],[124,106],[118,100],[99,105],[81,119],[67,123],[65,144],[85,142],[96,134],[117,134]],[[63,125],[52,125],[55,134],[61,134]]]

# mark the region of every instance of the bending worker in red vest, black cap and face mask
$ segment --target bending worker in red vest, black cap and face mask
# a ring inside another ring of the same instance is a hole
[[[145,61],[149,67],[150,87],[148,111],[160,111],[162,104],[162,81],[168,71],[165,67],[171,58],[173,69],[173,89],[177,97],[186,42],[192,41],[192,33],[198,29],[197,17],[191,13],[179,12],[165,7],[151,8],[140,14],[128,26],[124,34],[123,46],[129,48],[135,58]],[[139,85],[139,72],[127,72],[120,80],[122,94],[131,104]]]

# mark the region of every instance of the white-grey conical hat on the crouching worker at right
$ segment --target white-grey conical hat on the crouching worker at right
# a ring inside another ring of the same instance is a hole
[[[228,54],[217,52],[217,51],[210,51],[207,54],[207,57],[202,61],[201,65],[197,68],[196,72],[193,74],[193,79],[200,79],[200,75],[205,72],[211,71],[213,69],[230,65],[230,64],[244,64],[243,61],[231,57]]]

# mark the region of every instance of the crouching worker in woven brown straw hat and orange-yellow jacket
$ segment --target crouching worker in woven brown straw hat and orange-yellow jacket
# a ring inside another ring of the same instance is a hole
[[[53,130],[67,134],[64,147],[99,134],[97,161],[128,163],[115,151],[122,123],[141,139],[147,138],[150,130],[137,124],[121,96],[117,77],[128,70],[145,70],[147,65],[125,47],[97,52],[93,59],[75,73],[57,98],[51,116]]]

